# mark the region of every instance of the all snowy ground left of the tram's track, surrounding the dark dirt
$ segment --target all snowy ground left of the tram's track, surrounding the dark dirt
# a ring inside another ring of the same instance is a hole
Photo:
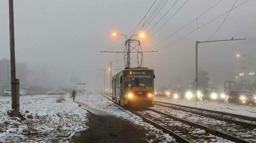
[[[150,142],[161,140],[164,143],[175,139],[154,126],[144,122],[142,118],[124,110],[100,94],[86,93],[77,95],[73,102],[69,95],[66,101],[57,103],[59,95],[34,95],[20,97],[20,110],[29,111],[26,120],[10,118],[7,110],[11,108],[11,97],[0,97],[0,143],[5,142],[70,142],[71,137],[86,127],[86,115],[89,112],[99,115],[114,115],[144,127]],[[81,107],[78,107],[78,103]],[[84,110],[86,109],[86,110]],[[88,112],[89,111],[89,112]],[[32,116],[31,116],[32,115]],[[30,118],[33,117],[33,118]],[[61,119],[61,120],[60,120]],[[155,138],[152,139],[152,136]]]

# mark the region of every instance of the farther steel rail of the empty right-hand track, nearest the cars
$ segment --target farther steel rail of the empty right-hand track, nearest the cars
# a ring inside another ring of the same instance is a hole
[[[190,107],[190,106],[185,106],[185,105],[179,105],[179,104],[173,104],[173,103],[167,103],[167,102],[162,102],[162,101],[155,101],[157,103],[163,103],[163,104],[169,104],[169,105],[174,105],[174,106],[180,106],[184,108],[191,108],[191,109],[197,109],[200,111],[206,111],[206,112],[212,112],[212,113],[217,113],[217,114],[222,114],[222,115],[228,115],[236,118],[241,118],[244,120],[250,120],[250,121],[256,121],[256,118],[254,117],[249,117],[249,116],[244,116],[244,115],[238,115],[238,114],[233,114],[233,113],[227,113],[227,112],[220,112],[220,111],[214,111],[214,110],[208,110],[208,109],[203,109],[203,108],[197,108],[197,107]]]

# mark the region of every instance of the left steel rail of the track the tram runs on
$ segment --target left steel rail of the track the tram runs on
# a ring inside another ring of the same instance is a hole
[[[103,97],[105,97],[105,96],[104,96],[105,94],[103,95],[102,93],[100,93],[100,95],[102,95]],[[107,96],[110,96],[110,95],[107,95]],[[107,97],[105,97],[105,98],[107,98]],[[112,102],[114,102],[115,104],[119,105],[119,106],[122,107],[123,109],[125,109],[125,110],[127,110],[127,111],[130,111],[131,113],[133,113],[133,114],[135,114],[135,115],[141,117],[143,121],[145,121],[145,122],[147,122],[147,123],[153,125],[153,126],[156,127],[157,129],[161,129],[162,131],[164,131],[165,133],[169,134],[170,136],[173,136],[173,138],[175,138],[175,140],[178,141],[179,143],[192,143],[192,142],[188,141],[187,139],[183,138],[182,136],[176,134],[175,132],[173,132],[173,131],[167,129],[166,127],[164,127],[164,126],[162,126],[162,125],[159,125],[158,123],[156,123],[156,122],[150,120],[149,118],[145,117],[144,115],[142,115],[142,114],[140,114],[140,113],[137,113],[136,111],[133,111],[133,110],[131,110],[131,109],[129,109],[129,108],[126,108],[126,107],[124,107],[124,106],[121,106],[120,104],[118,104],[117,102],[115,102],[115,101],[113,101],[113,100],[111,100],[111,99],[109,99],[109,98],[107,98],[107,99],[110,100],[110,101],[112,101]]]

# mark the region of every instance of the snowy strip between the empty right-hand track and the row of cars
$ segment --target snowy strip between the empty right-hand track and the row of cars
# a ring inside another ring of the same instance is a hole
[[[222,103],[222,102],[215,102],[215,101],[187,101],[183,99],[171,99],[168,97],[154,97],[154,100],[169,102],[169,103],[179,104],[184,106],[204,108],[204,109],[209,109],[214,111],[251,116],[256,118],[256,106],[238,105],[238,104]]]

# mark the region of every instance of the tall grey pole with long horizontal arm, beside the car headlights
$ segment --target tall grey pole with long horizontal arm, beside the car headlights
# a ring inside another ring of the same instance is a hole
[[[235,40],[245,40],[245,38],[242,39],[226,39],[226,40],[213,40],[213,41],[196,41],[196,92],[198,90],[198,73],[197,73],[197,51],[198,51],[198,44],[199,43],[207,43],[207,42],[223,42],[223,41],[235,41]],[[198,100],[198,98],[197,98]]]

